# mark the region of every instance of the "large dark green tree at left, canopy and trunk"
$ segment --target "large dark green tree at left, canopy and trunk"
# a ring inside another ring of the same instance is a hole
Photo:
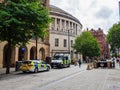
[[[13,46],[28,43],[32,36],[44,38],[51,19],[40,0],[4,0],[0,4],[0,41],[8,42],[6,74]]]

